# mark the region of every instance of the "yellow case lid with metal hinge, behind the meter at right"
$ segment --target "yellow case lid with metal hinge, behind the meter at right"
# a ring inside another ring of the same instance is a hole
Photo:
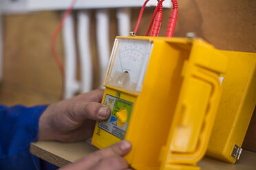
[[[228,58],[220,107],[207,155],[235,163],[256,104],[256,54],[220,51]]]

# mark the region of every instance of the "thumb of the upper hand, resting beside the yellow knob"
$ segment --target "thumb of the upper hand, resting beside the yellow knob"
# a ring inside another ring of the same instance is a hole
[[[97,102],[77,102],[67,114],[73,121],[84,121],[85,119],[102,121],[109,118],[110,112],[109,106]]]

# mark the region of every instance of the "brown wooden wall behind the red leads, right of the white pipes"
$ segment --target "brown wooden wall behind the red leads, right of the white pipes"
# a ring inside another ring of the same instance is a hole
[[[217,49],[256,52],[256,1],[180,0],[174,36],[195,32]],[[165,35],[171,10],[164,10],[160,36]],[[135,16],[136,15],[136,16]],[[133,25],[138,12],[134,12]],[[138,35],[145,35],[152,10],[145,10]]]

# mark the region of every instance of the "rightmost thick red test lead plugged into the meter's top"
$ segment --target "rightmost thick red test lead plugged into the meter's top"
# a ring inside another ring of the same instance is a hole
[[[178,2],[176,0],[171,0],[171,2],[173,3],[173,10],[169,16],[166,37],[173,37],[178,16]]]

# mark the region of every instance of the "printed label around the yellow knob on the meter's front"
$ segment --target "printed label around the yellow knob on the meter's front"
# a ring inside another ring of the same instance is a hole
[[[133,104],[129,101],[125,101],[111,95],[106,95],[104,104],[111,108],[111,116],[109,117],[109,119],[107,119],[107,121],[100,121],[98,123],[98,127],[120,139],[124,139]],[[116,112],[119,112],[123,108],[127,110],[127,122],[125,123],[125,125],[122,125],[122,127],[120,127],[117,123]]]

